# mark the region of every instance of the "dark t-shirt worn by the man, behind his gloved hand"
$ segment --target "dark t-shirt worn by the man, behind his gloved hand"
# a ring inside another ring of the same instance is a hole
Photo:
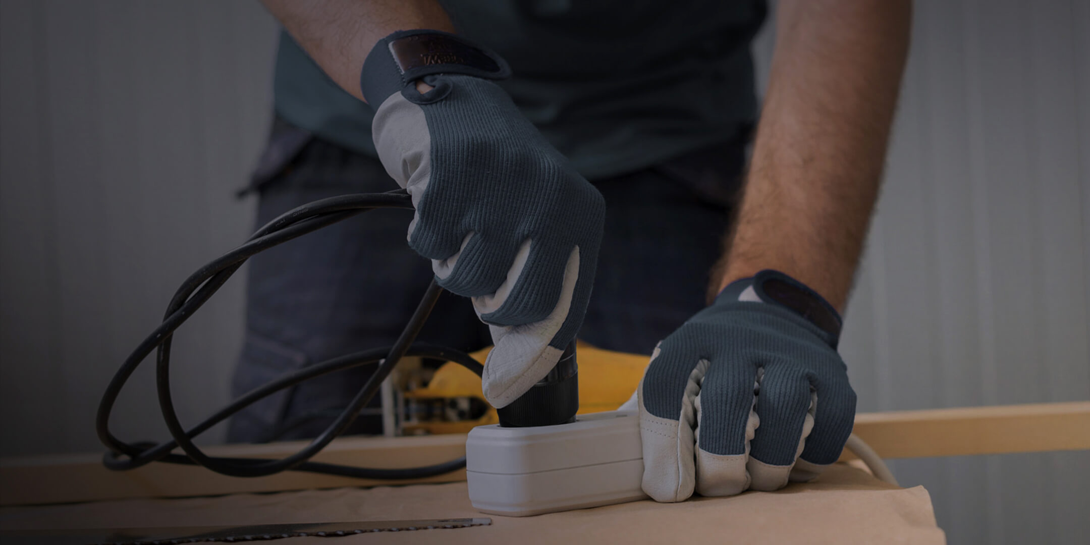
[[[507,59],[499,84],[586,178],[737,141],[756,117],[750,41],[764,0],[443,0],[459,34]],[[370,106],[282,33],[277,113],[371,156]]]

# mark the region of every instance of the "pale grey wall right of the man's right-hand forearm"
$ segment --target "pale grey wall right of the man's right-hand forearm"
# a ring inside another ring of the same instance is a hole
[[[1085,2],[917,2],[843,348],[860,410],[1090,399],[1085,15]],[[894,467],[928,487],[952,543],[1090,533],[1090,453]]]

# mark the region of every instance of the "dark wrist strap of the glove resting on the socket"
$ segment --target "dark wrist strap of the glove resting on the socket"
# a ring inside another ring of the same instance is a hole
[[[730,282],[718,296],[726,301],[752,301],[768,303],[787,308],[802,316],[829,336],[829,344],[836,348],[844,320],[840,313],[807,284],[778,271],[765,269],[752,278]]]

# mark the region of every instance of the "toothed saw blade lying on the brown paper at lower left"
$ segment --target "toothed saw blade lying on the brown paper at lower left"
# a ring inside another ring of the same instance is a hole
[[[486,526],[492,519],[377,520],[360,522],[303,522],[250,526],[174,526],[83,530],[10,530],[0,532],[5,545],[166,545],[196,542],[240,542],[281,537],[335,537],[370,532],[401,532]]]

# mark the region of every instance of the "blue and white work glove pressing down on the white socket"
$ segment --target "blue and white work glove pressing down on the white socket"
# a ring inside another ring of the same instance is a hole
[[[659,342],[637,396],[643,491],[681,501],[809,481],[851,434],[840,316],[774,270],[738,280]]]

